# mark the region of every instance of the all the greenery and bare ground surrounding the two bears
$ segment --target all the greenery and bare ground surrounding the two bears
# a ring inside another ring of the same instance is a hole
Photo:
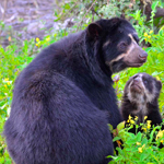
[[[15,5],[24,8],[15,11]],[[45,9],[46,7],[46,9]],[[31,15],[26,16],[31,11]],[[12,13],[12,14],[11,14]],[[12,90],[15,78],[33,58],[48,45],[80,30],[89,23],[113,16],[129,20],[136,27],[140,44],[149,54],[141,68],[128,69],[114,74],[118,105],[124,86],[129,77],[147,72],[164,84],[164,2],[162,0],[3,0],[0,2],[0,163],[13,164],[2,136],[3,125],[10,115]],[[31,19],[30,19],[31,17]],[[35,21],[37,20],[37,22]],[[164,87],[159,99],[160,110],[164,114]],[[112,163],[163,164],[164,149],[157,145],[164,141],[164,131],[149,122],[141,125],[145,131],[132,134],[121,129],[115,140],[124,140],[124,150]],[[155,131],[159,129],[159,132]],[[155,141],[153,137],[155,134]],[[148,138],[149,136],[149,138]],[[17,145],[19,147],[19,145]]]

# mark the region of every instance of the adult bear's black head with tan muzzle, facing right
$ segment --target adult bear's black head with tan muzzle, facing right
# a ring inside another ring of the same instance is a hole
[[[139,46],[139,37],[132,25],[114,17],[91,23],[87,27],[90,40],[104,71],[118,72],[128,67],[140,67],[148,54]]]

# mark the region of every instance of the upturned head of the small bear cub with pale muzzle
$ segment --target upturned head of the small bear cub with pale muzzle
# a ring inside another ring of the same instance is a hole
[[[132,103],[151,103],[159,98],[161,81],[147,73],[137,73],[129,79],[124,95]]]

